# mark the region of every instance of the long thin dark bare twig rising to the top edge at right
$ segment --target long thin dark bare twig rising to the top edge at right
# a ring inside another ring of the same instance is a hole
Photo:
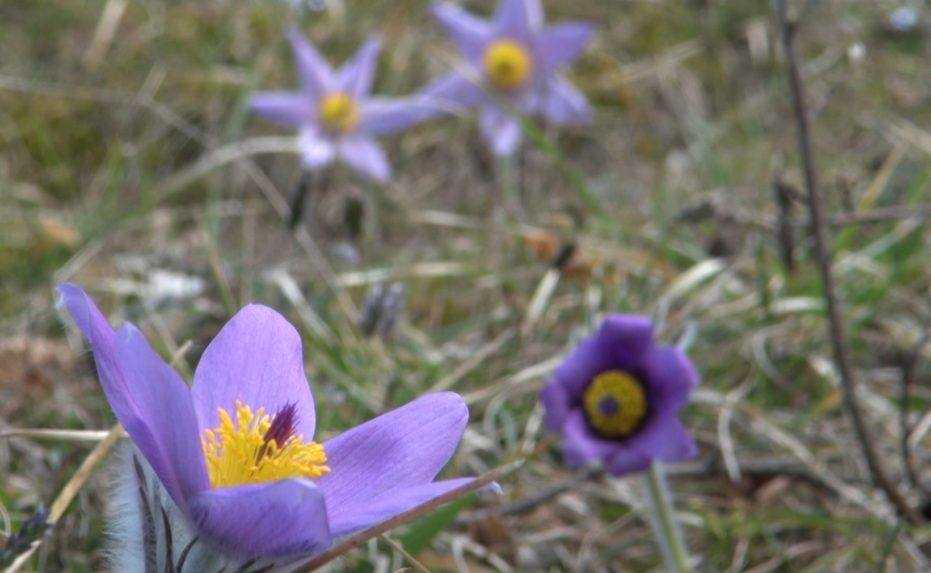
[[[841,387],[843,389],[844,404],[853,423],[854,432],[863,457],[866,459],[871,477],[876,486],[885,492],[889,501],[895,506],[896,512],[912,522],[920,522],[921,517],[912,508],[905,497],[896,489],[895,484],[886,474],[882,461],[873,444],[872,437],[863,420],[860,403],[857,398],[857,380],[850,366],[845,341],[843,316],[834,291],[834,276],[831,272],[831,254],[827,247],[827,224],[822,209],[821,195],[815,172],[814,156],[811,148],[811,137],[808,130],[808,112],[805,104],[805,94],[802,78],[798,69],[793,44],[794,26],[789,22],[788,0],[775,0],[776,17],[779,23],[780,36],[785,51],[786,64],[789,74],[789,88],[792,95],[792,107],[795,114],[798,131],[798,149],[802,159],[802,169],[805,178],[805,188],[808,199],[808,209],[811,213],[812,238],[814,239],[815,258],[821,274],[824,301],[827,309],[828,335],[834,351],[834,359],[840,373]]]

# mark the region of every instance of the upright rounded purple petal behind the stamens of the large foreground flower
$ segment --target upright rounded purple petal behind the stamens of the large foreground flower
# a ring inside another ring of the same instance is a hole
[[[296,433],[314,435],[314,397],[304,375],[301,337],[274,310],[251,304],[230,319],[204,351],[194,372],[194,410],[202,430],[219,424],[217,409],[230,414],[241,401],[273,416],[297,407]]]

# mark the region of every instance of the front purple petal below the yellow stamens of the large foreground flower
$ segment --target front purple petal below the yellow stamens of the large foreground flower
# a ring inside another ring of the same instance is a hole
[[[332,542],[323,493],[309,480],[207,490],[191,513],[201,534],[243,557],[316,553]]]

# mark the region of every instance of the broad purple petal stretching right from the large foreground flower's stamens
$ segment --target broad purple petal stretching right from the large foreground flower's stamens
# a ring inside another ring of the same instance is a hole
[[[426,394],[324,443],[330,473],[317,480],[330,520],[400,487],[423,485],[456,451],[469,421],[458,394]]]

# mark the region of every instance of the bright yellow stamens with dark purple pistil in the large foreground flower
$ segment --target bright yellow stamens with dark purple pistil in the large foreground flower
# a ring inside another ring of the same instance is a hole
[[[255,412],[236,402],[236,419],[219,408],[220,425],[201,438],[207,474],[212,487],[277,481],[292,477],[326,475],[326,453],[316,442],[294,434],[294,406],[282,408],[274,418],[264,408]]]

